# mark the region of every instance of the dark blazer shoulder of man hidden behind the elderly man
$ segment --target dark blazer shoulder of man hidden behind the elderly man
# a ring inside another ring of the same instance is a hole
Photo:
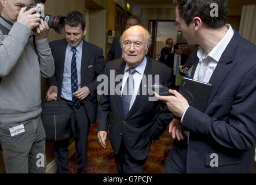
[[[108,56],[106,62],[122,58],[122,48],[120,45],[120,36],[115,36],[111,44],[110,50],[108,51]]]

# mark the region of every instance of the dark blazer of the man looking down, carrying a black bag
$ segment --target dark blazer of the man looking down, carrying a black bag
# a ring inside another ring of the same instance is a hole
[[[58,97],[61,94],[61,86],[63,80],[63,71],[65,63],[65,51],[67,47],[65,39],[55,40],[50,42],[50,48],[55,64],[55,72],[52,77],[47,79],[48,86],[58,87]],[[87,86],[90,94],[83,99],[85,109],[91,123],[96,121],[97,115],[97,76],[103,73],[105,61],[103,57],[103,50],[91,43],[83,40],[82,50],[82,64],[81,64],[81,87]]]

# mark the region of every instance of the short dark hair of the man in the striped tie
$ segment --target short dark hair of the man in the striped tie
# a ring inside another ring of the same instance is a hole
[[[81,24],[82,29],[84,30],[85,25],[85,17],[82,13],[78,11],[72,11],[67,14],[67,17],[65,18],[65,24],[70,25],[71,27],[78,27],[79,24]]]

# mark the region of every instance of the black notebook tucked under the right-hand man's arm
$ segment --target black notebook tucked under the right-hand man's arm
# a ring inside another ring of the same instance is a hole
[[[200,82],[198,80],[184,77],[181,80],[180,94],[186,98],[190,106],[204,111],[211,90],[210,83]]]

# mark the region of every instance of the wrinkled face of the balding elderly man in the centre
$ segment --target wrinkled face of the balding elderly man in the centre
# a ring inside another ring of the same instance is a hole
[[[131,27],[125,31],[122,42],[123,59],[130,68],[136,68],[148,52],[145,31],[140,27]]]

